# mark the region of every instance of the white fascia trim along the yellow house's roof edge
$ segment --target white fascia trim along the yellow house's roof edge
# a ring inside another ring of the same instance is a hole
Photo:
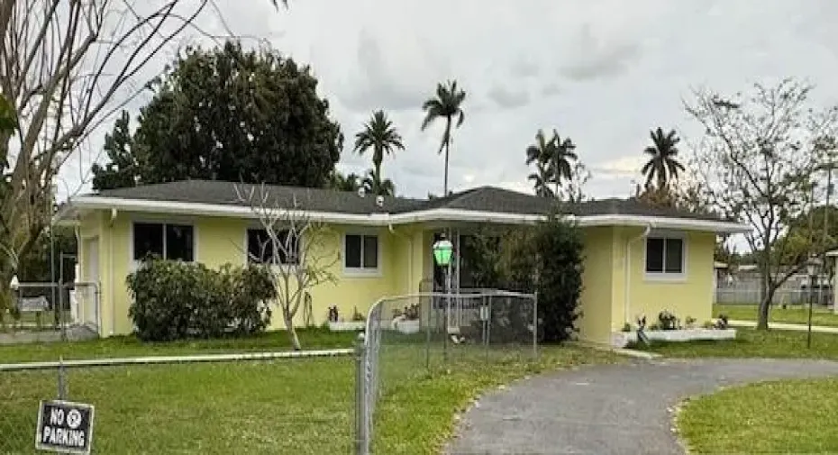
[[[118,208],[125,211],[153,212],[158,214],[226,216],[235,218],[256,218],[250,207],[244,205],[202,204],[176,201],[150,201],[141,199],[125,199],[107,196],[77,196],[70,203],[74,208],[81,209],[110,209]],[[68,213],[70,211],[68,210]],[[386,227],[388,224],[404,224],[429,221],[461,221],[477,223],[510,223],[529,224],[544,219],[540,214],[507,214],[484,212],[476,210],[457,210],[438,208],[420,210],[405,214],[341,214],[333,212],[309,212],[314,220],[323,223],[348,223],[353,225],[368,225]],[[646,226],[652,223],[655,227],[686,230],[709,231],[718,233],[743,233],[752,230],[750,225],[742,223],[697,220],[692,218],[669,218],[662,216],[643,216],[626,214],[598,214],[587,216],[566,215],[569,222],[576,222],[579,226]]]

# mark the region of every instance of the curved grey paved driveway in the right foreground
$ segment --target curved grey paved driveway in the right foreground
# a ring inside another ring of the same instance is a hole
[[[525,379],[482,396],[448,454],[683,454],[671,410],[718,387],[838,375],[838,362],[773,359],[632,361]]]

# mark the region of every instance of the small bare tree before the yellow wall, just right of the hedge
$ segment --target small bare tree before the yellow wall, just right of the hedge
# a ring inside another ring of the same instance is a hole
[[[294,349],[300,350],[294,317],[314,287],[337,282],[332,272],[340,260],[334,250],[337,233],[306,212],[296,196],[280,199],[265,185],[237,186],[236,196],[250,206],[265,230],[259,253],[248,254],[266,264],[277,287],[277,304],[288,337]]]

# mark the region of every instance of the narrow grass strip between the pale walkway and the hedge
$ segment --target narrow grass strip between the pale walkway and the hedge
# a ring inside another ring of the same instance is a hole
[[[297,331],[304,349],[351,348],[354,332],[323,329]],[[0,345],[0,363],[64,359],[97,359],[178,354],[210,354],[255,350],[288,350],[286,332],[267,332],[248,338],[149,343],[132,336],[101,340]]]

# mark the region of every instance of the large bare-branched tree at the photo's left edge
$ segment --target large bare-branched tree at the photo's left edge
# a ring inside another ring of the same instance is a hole
[[[50,223],[55,179],[91,132],[139,95],[142,68],[208,0],[3,0],[0,288]]]

